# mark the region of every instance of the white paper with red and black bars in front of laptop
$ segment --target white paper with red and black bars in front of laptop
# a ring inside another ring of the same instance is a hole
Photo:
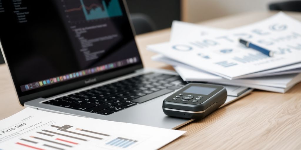
[[[159,149],[184,133],[25,108],[0,121],[0,149]]]

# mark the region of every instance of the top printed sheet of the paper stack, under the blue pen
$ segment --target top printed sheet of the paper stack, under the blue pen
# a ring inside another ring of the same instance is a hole
[[[148,49],[224,78],[238,79],[247,74],[301,62],[299,26],[299,21],[278,13],[263,21],[232,29],[226,35],[204,36],[177,44],[154,44]],[[275,51],[275,56],[268,57],[245,48],[237,38],[271,49]]]

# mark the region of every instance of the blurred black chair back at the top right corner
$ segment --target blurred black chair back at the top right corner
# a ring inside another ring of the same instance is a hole
[[[301,1],[285,1],[269,4],[270,10],[301,12]]]

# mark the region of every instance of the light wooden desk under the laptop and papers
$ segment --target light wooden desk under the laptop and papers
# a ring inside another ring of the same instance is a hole
[[[201,22],[232,28],[259,21],[275,12],[251,12]],[[301,13],[288,13],[301,20]],[[169,40],[165,29],[136,37],[145,67],[172,67],[151,61],[147,44]],[[0,65],[0,119],[22,110],[5,65]],[[205,119],[179,130],[187,133],[163,149],[301,149],[301,83],[285,94],[256,90]]]

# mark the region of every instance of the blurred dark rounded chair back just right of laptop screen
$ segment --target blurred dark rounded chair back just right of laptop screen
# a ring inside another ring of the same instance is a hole
[[[156,30],[154,21],[146,14],[133,13],[131,14],[131,20],[133,22],[136,35]]]

